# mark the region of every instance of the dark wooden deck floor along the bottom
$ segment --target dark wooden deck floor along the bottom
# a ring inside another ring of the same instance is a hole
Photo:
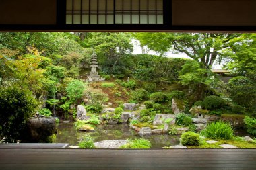
[[[0,169],[256,169],[255,149],[0,149]]]

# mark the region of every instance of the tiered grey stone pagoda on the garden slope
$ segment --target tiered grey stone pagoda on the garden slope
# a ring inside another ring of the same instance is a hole
[[[90,60],[90,74],[88,75],[88,81],[93,82],[93,81],[104,81],[105,78],[100,77],[97,72],[98,68],[98,60],[97,60],[97,55],[95,52],[92,53],[92,58]]]

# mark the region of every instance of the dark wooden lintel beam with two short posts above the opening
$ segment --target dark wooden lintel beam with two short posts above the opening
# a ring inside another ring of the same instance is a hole
[[[256,32],[256,26],[173,26],[172,1],[164,0],[164,24],[65,24],[66,1],[57,0],[56,25],[0,24],[1,31]]]

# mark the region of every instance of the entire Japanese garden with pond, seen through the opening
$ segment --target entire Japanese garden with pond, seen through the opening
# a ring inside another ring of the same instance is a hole
[[[0,68],[0,143],[256,148],[256,34],[1,32]]]

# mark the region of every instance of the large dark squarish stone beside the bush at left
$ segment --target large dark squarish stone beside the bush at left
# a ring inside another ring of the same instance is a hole
[[[55,118],[30,118],[26,123],[22,142],[49,142],[49,136],[56,133]]]

